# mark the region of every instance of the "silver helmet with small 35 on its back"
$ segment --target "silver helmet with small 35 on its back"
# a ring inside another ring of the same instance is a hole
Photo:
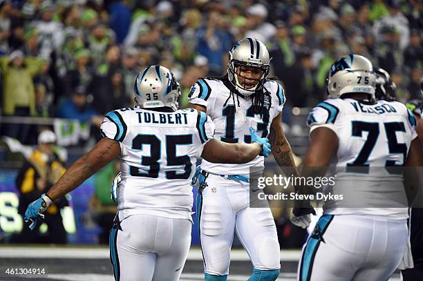
[[[140,108],[169,106],[178,110],[180,87],[173,73],[164,66],[149,66],[138,74],[133,86]]]

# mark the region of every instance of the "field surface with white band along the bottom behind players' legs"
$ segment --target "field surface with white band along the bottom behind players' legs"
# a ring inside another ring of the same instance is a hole
[[[281,274],[278,280],[294,281],[299,251],[281,251]],[[106,247],[0,246],[0,280],[23,281],[113,281],[113,271]],[[227,280],[247,280],[252,266],[243,249],[234,249]],[[44,275],[11,275],[7,269],[44,269]],[[182,281],[203,280],[200,249],[191,249],[182,271]],[[390,281],[399,281],[395,274]]]

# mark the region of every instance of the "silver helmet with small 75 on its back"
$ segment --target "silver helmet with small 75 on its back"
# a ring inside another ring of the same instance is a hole
[[[341,97],[346,93],[363,93],[375,99],[376,76],[373,64],[361,55],[346,55],[329,70],[328,95]]]

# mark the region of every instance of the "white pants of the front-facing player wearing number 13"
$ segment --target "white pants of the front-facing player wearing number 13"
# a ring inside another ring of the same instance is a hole
[[[197,197],[200,243],[205,273],[229,274],[234,232],[254,269],[280,269],[276,226],[269,208],[249,207],[249,184],[209,175],[203,195]]]

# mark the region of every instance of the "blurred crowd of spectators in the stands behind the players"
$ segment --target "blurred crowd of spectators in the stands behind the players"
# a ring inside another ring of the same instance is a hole
[[[1,115],[100,124],[133,105],[133,79],[150,64],[176,75],[183,108],[243,37],[270,50],[288,108],[325,99],[328,68],[350,52],[391,73],[406,101],[420,97],[422,30],[419,0],[0,0]],[[3,124],[1,135],[30,144],[30,130]]]

